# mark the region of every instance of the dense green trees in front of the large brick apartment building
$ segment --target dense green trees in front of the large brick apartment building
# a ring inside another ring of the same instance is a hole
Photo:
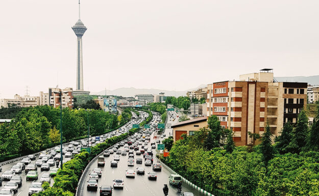
[[[266,125],[260,144],[254,147],[235,147],[232,131],[211,116],[208,127],[195,135],[184,134],[175,143],[173,138],[165,139],[170,156],[161,158],[216,196],[319,195],[318,135],[319,104],[312,126],[302,111],[297,123],[285,123],[277,138]]]

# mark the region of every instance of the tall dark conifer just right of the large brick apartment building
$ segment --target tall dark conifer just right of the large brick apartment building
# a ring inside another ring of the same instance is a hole
[[[286,147],[288,152],[300,153],[306,145],[308,135],[308,117],[305,110],[302,110],[298,116],[298,121],[295,129],[292,131],[292,138],[289,145]]]

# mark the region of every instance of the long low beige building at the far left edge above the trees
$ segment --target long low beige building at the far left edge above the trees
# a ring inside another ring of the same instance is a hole
[[[20,107],[37,106],[40,103],[40,98],[30,95],[24,95],[21,97],[18,94],[14,95],[14,99],[1,99],[0,105],[3,107],[9,107],[10,105],[16,105]]]

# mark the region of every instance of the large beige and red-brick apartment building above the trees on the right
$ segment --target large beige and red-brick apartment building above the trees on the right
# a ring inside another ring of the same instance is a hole
[[[274,82],[271,69],[240,75],[241,81],[208,85],[207,116],[216,115],[220,125],[233,131],[237,146],[250,145],[251,133],[264,133],[268,122],[274,136],[284,123],[297,122],[307,100],[307,83]]]

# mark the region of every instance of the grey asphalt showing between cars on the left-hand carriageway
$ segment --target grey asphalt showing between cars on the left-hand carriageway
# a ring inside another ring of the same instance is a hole
[[[144,116],[144,117],[148,117],[149,114],[142,112],[141,115]],[[133,117],[134,117],[134,118],[137,118],[137,116],[136,116],[135,113],[132,113],[132,118],[133,118]],[[124,130],[124,132],[122,132],[122,133],[127,132],[127,131],[130,129],[130,127],[132,127],[133,124],[138,124],[138,123],[140,123],[141,121],[142,121],[142,120],[134,120],[134,119],[131,119],[130,122],[128,122],[127,124],[125,124],[124,126],[121,127],[121,128]],[[110,137],[111,134],[112,134],[112,135],[116,135],[116,134],[119,134],[119,132],[118,132],[118,130],[114,130],[114,131],[112,131],[112,132],[110,132],[110,133],[107,133],[106,135],[107,135],[108,137]],[[83,139],[83,140],[87,140],[87,138],[85,138],[85,139]],[[94,145],[95,145],[95,144],[93,144],[93,146],[94,146]],[[63,145],[63,146],[65,146],[65,145]],[[59,147],[60,147],[60,146],[59,146]],[[66,147],[66,146],[65,146],[65,147]],[[48,150],[48,149],[47,149],[47,150]],[[36,157],[36,160],[38,160],[38,159],[39,159],[39,156]],[[36,160],[31,161],[31,163],[35,163]],[[63,162],[66,162],[66,161],[68,161],[68,160],[70,160],[70,157],[65,158],[64,155],[63,155]],[[15,165],[16,163],[18,163],[18,162],[19,162],[19,161],[2,165],[2,172],[0,172],[0,176],[1,176],[5,171],[11,170],[11,167],[12,167],[13,165]],[[53,169],[54,167],[56,167],[56,166],[51,166],[51,167],[50,167],[50,171],[51,171],[51,169]],[[44,173],[50,173],[50,171],[42,171],[42,172],[41,172],[40,166],[38,166],[37,171],[38,171],[38,175],[39,175],[39,176],[38,176],[38,180],[35,180],[35,182],[40,182],[40,178],[41,178],[42,174],[44,174]],[[15,196],[17,196],[17,195],[19,195],[19,196],[27,196],[27,195],[28,195],[28,192],[29,192],[29,186],[31,185],[31,183],[32,183],[33,181],[27,181],[27,180],[26,180],[27,174],[25,174],[24,170],[22,171],[21,174],[15,174],[15,175],[21,176],[21,178],[22,178],[22,185],[18,188],[18,191],[17,191],[14,195],[15,195]],[[0,186],[0,189],[1,189],[1,188],[4,188],[4,186],[6,185],[7,182],[8,182],[8,181],[3,181],[2,186]],[[51,186],[53,185],[53,183],[54,183],[54,180],[53,180],[53,178],[51,178]]]

